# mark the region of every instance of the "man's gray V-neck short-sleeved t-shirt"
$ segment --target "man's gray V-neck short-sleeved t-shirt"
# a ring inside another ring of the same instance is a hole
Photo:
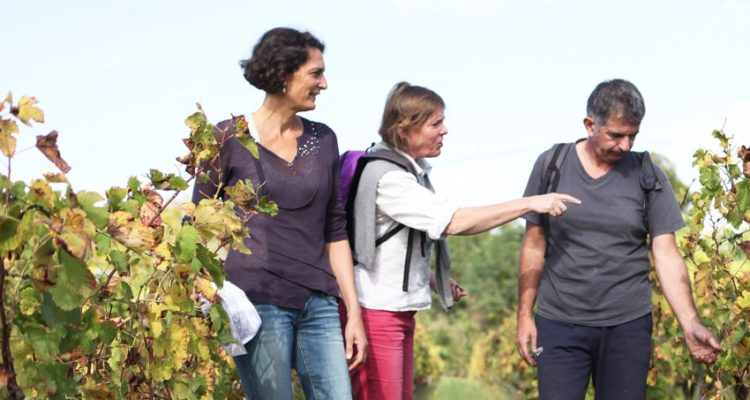
[[[546,155],[534,164],[524,196],[538,194]],[[663,189],[649,192],[646,223],[646,192],[640,186],[641,162],[635,154],[626,154],[604,176],[593,179],[575,148],[570,149],[556,192],[577,197],[581,205],[568,204],[565,214],[549,218],[537,314],[580,325],[613,326],[651,311],[646,237],[685,225],[669,180],[654,167]],[[540,224],[539,214],[523,218]]]

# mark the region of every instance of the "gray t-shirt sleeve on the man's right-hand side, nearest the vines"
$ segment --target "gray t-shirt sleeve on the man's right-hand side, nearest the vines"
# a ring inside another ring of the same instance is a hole
[[[658,165],[654,164],[654,170],[656,171],[656,177],[661,182],[662,189],[660,191],[652,190],[648,194],[648,230],[652,237],[662,233],[673,233],[685,226],[680,206],[675,199],[667,175]]]

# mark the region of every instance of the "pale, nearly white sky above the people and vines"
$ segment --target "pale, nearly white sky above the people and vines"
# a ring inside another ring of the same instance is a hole
[[[432,181],[458,206],[520,197],[542,151],[585,136],[586,99],[606,79],[638,86],[647,112],[634,150],[666,156],[684,181],[696,176],[693,152],[716,147],[713,129],[750,145],[747,0],[37,0],[0,10],[0,95],[35,96],[46,118],[22,127],[14,180],[55,171],[34,148],[52,129],[75,190],[182,172],[175,157],[197,102],[213,122],[260,106],[238,62],[276,26],[325,42],[329,88],[302,115],[333,128],[342,151],[378,140],[395,83],[440,94],[449,134]]]

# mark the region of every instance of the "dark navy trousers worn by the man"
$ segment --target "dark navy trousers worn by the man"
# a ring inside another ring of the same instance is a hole
[[[536,316],[539,398],[584,399],[589,378],[597,400],[646,398],[651,313],[621,325],[591,327]]]

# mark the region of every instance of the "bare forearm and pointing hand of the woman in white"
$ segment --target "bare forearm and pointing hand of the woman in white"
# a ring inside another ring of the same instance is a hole
[[[445,228],[445,234],[474,235],[506,224],[528,212],[558,216],[568,209],[565,203],[581,204],[581,201],[567,194],[547,193],[489,206],[459,208]]]

